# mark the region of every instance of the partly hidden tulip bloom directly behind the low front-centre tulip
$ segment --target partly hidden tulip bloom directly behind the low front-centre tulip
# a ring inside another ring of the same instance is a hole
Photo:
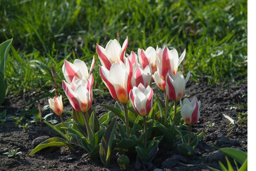
[[[151,67],[148,65],[143,68],[140,64],[133,65],[133,76],[131,78],[131,85],[132,87],[138,87],[139,84],[143,84],[144,87],[148,87],[151,82]]]

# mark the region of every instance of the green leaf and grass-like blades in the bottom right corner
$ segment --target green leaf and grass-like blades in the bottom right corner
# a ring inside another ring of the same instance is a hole
[[[233,158],[237,171],[247,171],[247,153],[245,153],[244,151],[235,149],[235,148],[221,148],[219,150],[224,152],[225,154],[227,154],[229,157]],[[224,166],[224,164],[222,162],[219,162],[221,170],[222,171],[234,171],[235,169],[233,169],[233,167],[227,157],[226,157],[226,161],[227,161],[227,168]],[[236,162],[239,162],[239,164],[241,164],[240,168]],[[208,167],[208,168],[210,171],[220,171],[220,170],[212,168],[212,167]],[[209,171],[209,170],[204,170],[204,171]]]

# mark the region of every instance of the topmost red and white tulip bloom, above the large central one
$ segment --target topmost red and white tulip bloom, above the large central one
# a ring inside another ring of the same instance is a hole
[[[120,43],[114,39],[108,41],[106,48],[104,49],[102,46],[96,44],[96,51],[99,56],[99,61],[102,66],[106,69],[110,70],[111,65],[115,62],[125,62],[125,49],[128,46],[128,36],[126,37],[122,47]]]

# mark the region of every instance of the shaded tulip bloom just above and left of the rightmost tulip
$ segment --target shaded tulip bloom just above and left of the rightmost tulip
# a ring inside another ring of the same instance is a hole
[[[172,76],[171,76],[172,75]],[[177,72],[175,75],[169,72],[166,76],[166,94],[172,101],[180,101],[184,96],[184,91],[186,83],[190,77],[190,72],[188,72],[186,79],[184,78],[181,71]]]

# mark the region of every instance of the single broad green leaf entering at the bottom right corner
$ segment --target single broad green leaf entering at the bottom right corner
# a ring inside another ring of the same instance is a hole
[[[227,155],[229,155],[233,159],[235,159],[241,165],[247,159],[247,153],[245,153],[244,151],[235,149],[235,148],[221,148],[219,150],[226,153]]]

